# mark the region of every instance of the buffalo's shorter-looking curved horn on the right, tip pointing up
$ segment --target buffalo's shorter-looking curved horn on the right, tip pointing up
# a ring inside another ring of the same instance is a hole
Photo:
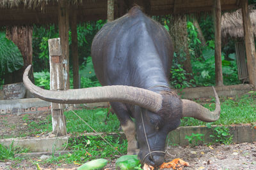
[[[210,111],[194,101],[182,99],[182,117],[193,117],[204,122],[214,122],[220,118],[220,99],[214,87],[216,108]]]

